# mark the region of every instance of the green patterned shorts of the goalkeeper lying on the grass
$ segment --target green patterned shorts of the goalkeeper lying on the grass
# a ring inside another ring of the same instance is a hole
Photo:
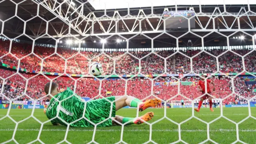
[[[86,103],[86,111],[84,116],[88,120],[90,120],[90,122],[98,124],[97,127],[112,126],[112,120],[110,119],[110,117],[116,116],[116,103],[114,102],[115,97],[110,96],[106,99],[102,98],[98,100],[92,100]],[[113,103],[111,104],[111,102]],[[94,126],[90,122],[86,122],[86,127]]]

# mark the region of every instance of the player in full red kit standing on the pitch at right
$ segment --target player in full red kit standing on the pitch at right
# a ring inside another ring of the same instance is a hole
[[[205,93],[205,82],[204,82],[204,75],[202,74],[201,75],[201,80],[199,80],[199,82],[198,82],[198,86],[197,86],[197,89],[200,91],[200,92],[202,92],[202,94],[204,94]],[[208,80],[207,79],[207,88],[206,88],[206,90],[207,90],[207,93],[208,94],[211,94],[211,91],[210,91],[210,84],[212,84],[213,85],[213,91],[215,91],[215,84],[214,84],[214,82],[212,81],[212,80]],[[214,112],[214,110],[212,109],[212,97],[210,96],[210,95],[208,95],[208,94],[205,94],[202,98],[200,98],[200,101],[199,101],[199,104],[198,104],[198,108],[195,108],[195,111],[196,112],[199,112],[200,111],[200,108],[201,108],[201,106],[202,106],[202,102],[204,101],[204,100],[206,100],[207,98],[209,99],[209,105],[210,105],[210,110],[212,111],[212,112]]]

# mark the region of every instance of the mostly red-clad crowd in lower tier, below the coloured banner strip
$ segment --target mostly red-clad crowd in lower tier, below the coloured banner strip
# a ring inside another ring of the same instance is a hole
[[[13,74],[10,70],[0,70],[1,72],[4,72],[4,74]],[[26,80],[24,80],[22,76],[30,77],[27,82],[27,87]],[[148,78],[132,78],[130,80],[127,80],[127,89],[125,89],[125,80],[122,80],[120,78],[110,78],[107,80],[102,80],[101,92],[99,92],[100,81],[94,78],[71,78],[68,76],[60,76],[58,78],[56,78],[56,76],[47,76],[48,78],[46,78],[46,76],[43,75],[35,76],[34,74],[28,73],[23,73],[22,76],[20,76],[19,74],[15,74],[14,76],[6,79],[4,83],[3,80],[0,80],[0,88],[4,88],[3,94],[6,97],[10,99],[20,97],[24,100],[28,100],[30,98],[41,98],[41,100],[48,100],[49,97],[45,97],[46,94],[44,93],[44,84],[50,82],[50,79],[54,79],[53,82],[56,82],[60,88],[65,89],[69,87],[82,97],[94,98],[100,95],[123,96],[127,94],[130,96],[135,96],[139,99],[145,99],[154,94],[154,96],[157,96],[162,100],[184,99],[184,97],[178,94],[178,82],[175,78],[172,77],[160,77],[155,79],[154,81],[151,81]],[[214,76],[210,79],[213,80],[216,84],[216,91],[212,92],[212,96],[214,96],[215,98],[222,98],[224,99],[224,102],[235,102],[235,100],[237,99],[237,95],[232,94],[232,82],[229,78],[225,76]],[[76,86],[75,80],[77,81]],[[198,77],[185,77],[182,79],[182,81],[194,82],[194,84],[191,85],[180,84],[180,94],[185,96],[187,100],[194,100],[202,95],[202,93],[197,90],[198,80]],[[236,94],[239,94],[246,99],[250,99],[255,96],[254,89],[256,88],[256,85],[246,85],[246,80],[248,80],[248,78],[234,78],[234,90]],[[3,84],[4,87],[2,87]],[[6,97],[4,97],[4,99],[6,99]],[[243,99],[240,98],[240,100]]]

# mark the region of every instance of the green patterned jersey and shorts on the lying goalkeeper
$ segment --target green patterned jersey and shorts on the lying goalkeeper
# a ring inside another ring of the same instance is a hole
[[[112,120],[109,117],[115,117],[116,114],[114,96],[87,102],[84,113],[84,118],[86,119],[82,118],[85,101],[74,94],[72,90],[65,90],[54,96],[54,98],[50,100],[46,110],[46,116],[51,120],[52,124],[58,123],[66,126],[68,123],[73,127],[93,127],[93,124],[100,123],[98,126],[112,126]],[[113,104],[110,102],[113,102]],[[58,117],[56,117],[57,114]]]

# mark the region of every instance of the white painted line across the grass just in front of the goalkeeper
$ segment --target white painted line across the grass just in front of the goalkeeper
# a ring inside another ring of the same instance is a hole
[[[17,129],[17,131],[38,131],[40,129]],[[0,129],[0,131],[14,131],[14,129]],[[52,132],[66,132],[65,129],[43,129],[42,131],[52,131]],[[79,130],[79,129],[70,129],[68,131],[71,132],[93,132],[94,130]],[[96,130],[98,132],[120,132],[121,130]],[[133,129],[133,130],[124,130],[128,132],[149,132],[149,130],[139,130],[139,129]],[[178,129],[174,130],[152,130],[153,132],[178,132]],[[240,132],[256,132],[256,130],[239,130]],[[181,130],[181,132],[207,132],[207,130]],[[216,130],[210,130],[210,132],[236,132],[236,129],[216,129]]]

